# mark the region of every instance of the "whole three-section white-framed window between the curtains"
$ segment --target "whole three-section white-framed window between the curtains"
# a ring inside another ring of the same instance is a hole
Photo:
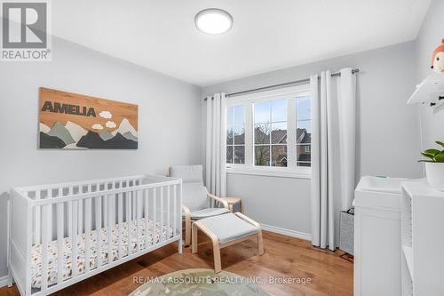
[[[308,85],[227,99],[226,163],[234,171],[309,175],[311,133]]]

